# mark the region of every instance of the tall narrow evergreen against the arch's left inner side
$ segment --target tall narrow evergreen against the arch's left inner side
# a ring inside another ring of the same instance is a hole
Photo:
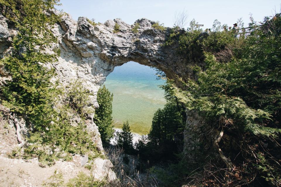
[[[97,92],[97,102],[100,107],[95,111],[94,122],[99,127],[103,144],[109,143],[113,137],[112,101],[113,94],[110,94],[105,86],[101,87]]]

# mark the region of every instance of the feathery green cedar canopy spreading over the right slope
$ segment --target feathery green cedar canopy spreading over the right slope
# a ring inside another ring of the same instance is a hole
[[[247,158],[247,171],[257,171],[258,176],[275,185],[280,185],[281,180],[278,163],[281,132],[280,28],[280,14],[272,19],[265,18],[260,27],[252,23],[253,32],[246,39],[234,36],[225,40],[223,46],[210,50],[213,53],[204,52],[205,70],[196,65],[190,67],[196,73],[196,80],[182,81],[184,89],[177,88],[170,81],[170,86],[176,90],[175,95],[187,109],[196,110],[217,129],[223,127],[239,134],[242,139],[238,144],[243,158]],[[224,41],[224,32],[210,34],[203,41],[193,37],[191,43],[210,41],[207,46],[218,46],[221,39]],[[188,45],[190,41],[186,40],[184,46]],[[223,55],[227,58],[218,61],[216,57],[221,56],[216,53],[217,49],[228,53],[226,47],[231,51],[231,58]],[[263,146],[264,143],[268,146]]]

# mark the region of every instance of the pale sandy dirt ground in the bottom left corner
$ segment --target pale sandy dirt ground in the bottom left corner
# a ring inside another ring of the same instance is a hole
[[[80,171],[89,173],[88,169],[77,167],[73,162],[57,161],[52,167],[42,168],[37,159],[29,161],[0,156],[0,186],[42,186],[55,170],[62,172],[65,182],[74,178]]]

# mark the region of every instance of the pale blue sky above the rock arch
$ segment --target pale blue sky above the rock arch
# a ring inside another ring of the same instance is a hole
[[[186,11],[188,20],[195,18],[199,24],[204,24],[203,29],[211,28],[213,21],[218,19],[222,24],[232,26],[238,18],[243,18],[245,26],[249,23],[249,13],[253,14],[256,21],[263,20],[280,12],[281,1],[277,0],[61,0],[63,9],[77,20],[80,16],[95,22],[104,23],[106,20],[121,18],[132,25],[139,18],[148,18],[164,23],[166,27],[173,26],[175,12]],[[187,26],[186,26],[187,27]]]

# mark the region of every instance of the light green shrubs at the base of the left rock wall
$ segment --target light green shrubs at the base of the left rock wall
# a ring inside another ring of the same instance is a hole
[[[32,143],[25,149],[25,158],[38,156],[43,165],[51,165],[54,160],[60,158],[61,152],[88,154],[94,157],[99,155],[91,134],[87,131],[84,121],[86,113],[83,107],[87,104],[90,95],[79,82],[70,85],[66,94],[65,105],[52,113],[53,121],[46,128],[36,128],[30,133],[28,143]],[[73,125],[70,114],[76,115],[81,120]]]

